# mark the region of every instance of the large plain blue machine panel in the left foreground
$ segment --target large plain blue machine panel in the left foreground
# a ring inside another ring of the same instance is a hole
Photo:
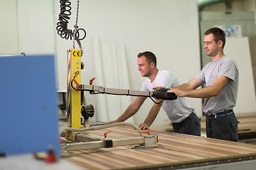
[[[54,55],[0,56],[0,153],[60,156]]]

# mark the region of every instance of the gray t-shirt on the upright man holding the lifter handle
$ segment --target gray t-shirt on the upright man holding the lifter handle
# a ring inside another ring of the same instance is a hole
[[[204,113],[217,113],[220,111],[233,109],[238,96],[238,65],[230,57],[224,56],[215,62],[209,62],[203,67],[197,78],[212,86],[218,76],[228,77],[230,80],[218,96],[206,98],[203,103]]]

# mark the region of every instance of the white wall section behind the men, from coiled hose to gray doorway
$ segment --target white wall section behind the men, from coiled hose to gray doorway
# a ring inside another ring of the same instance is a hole
[[[137,54],[146,50],[155,53],[159,69],[171,70],[177,74],[181,82],[192,79],[200,71],[198,12],[196,1],[186,1],[186,6],[189,8],[184,6],[184,2],[166,0],[80,1],[78,25],[87,31],[87,38],[82,41],[85,52],[82,57],[85,63],[82,83],[88,84],[92,77],[96,77],[94,84],[97,85],[140,90],[144,78],[137,71]],[[55,1],[55,11],[59,10],[58,6],[58,1]],[[70,26],[72,25],[71,22]],[[62,50],[57,50],[57,57],[60,60],[60,57],[65,56],[65,49],[70,45],[65,46],[66,40],[58,36],[57,44],[58,48],[62,48]],[[127,74],[123,74],[122,77],[129,79],[129,83],[122,84],[122,86],[108,81],[117,79],[110,69],[119,67],[119,65],[110,61],[116,55],[115,51],[118,46],[123,47],[124,56],[117,55],[117,57],[127,60],[128,69]],[[97,56],[100,56],[102,60],[98,60]],[[58,64],[58,71],[63,72],[61,70],[65,70],[65,64],[60,65],[60,62]],[[103,68],[106,65],[107,68]],[[99,71],[100,69],[102,71]],[[184,69],[190,71],[184,74]],[[59,88],[65,88],[65,85],[62,85],[65,84],[65,74],[58,75],[62,77],[59,79]],[[117,113],[114,108],[118,106],[116,101],[119,101],[117,100],[119,96],[92,96],[85,93],[85,97],[87,103],[95,105],[97,109],[95,118],[100,121],[114,120],[135,99],[122,96],[122,98],[130,99],[125,101],[127,104],[118,109]],[[201,99],[190,99],[190,103],[200,115]],[[150,99],[146,100],[139,112],[128,121],[136,125],[142,123],[152,104]],[[154,124],[161,124],[164,119],[167,119],[166,114],[161,111]]]

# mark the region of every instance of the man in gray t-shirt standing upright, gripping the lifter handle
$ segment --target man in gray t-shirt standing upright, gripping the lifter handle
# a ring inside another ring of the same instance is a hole
[[[238,96],[238,65],[223,53],[223,30],[210,28],[204,35],[206,55],[213,62],[206,64],[196,78],[169,92],[174,92],[178,97],[206,98],[203,112],[206,113],[207,136],[238,141],[239,122],[233,112]],[[206,84],[205,88],[197,89],[203,84]]]

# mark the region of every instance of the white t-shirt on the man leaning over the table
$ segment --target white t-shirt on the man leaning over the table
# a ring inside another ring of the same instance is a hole
[[[178,78],[172,72],[159,70],[153,82],[148,78],[145,79],[142,84],[142,91],[153,91],[153,88],[156,86],[165,86],[166,88],[170,88],[178,85]],[[165,100],[162,108],[164,108],[164,111],[172,123],[180,123],[194,110],[188,106],[186,98],[179,97],[174,101]]]

